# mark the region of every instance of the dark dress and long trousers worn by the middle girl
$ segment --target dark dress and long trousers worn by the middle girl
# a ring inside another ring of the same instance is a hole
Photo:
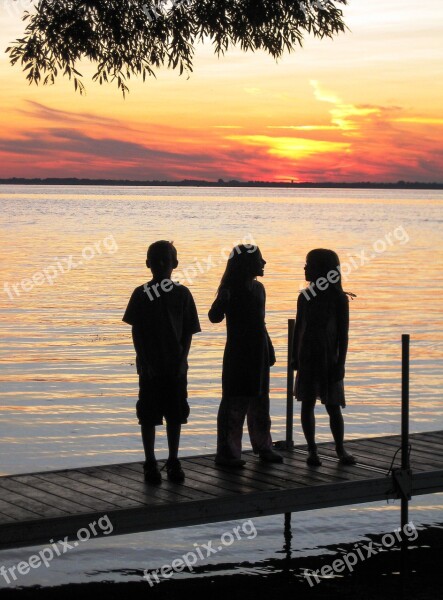
[[[245,416],[254,452],[272,449],[269,372],[275,355],[265,325],[265,302],[265,289],[254,280],[250,288],[231,290],[226,303],[217,297],[209,311],[212,323],[226,316],[227,328],[217,417],[218,457],[240,458]]]

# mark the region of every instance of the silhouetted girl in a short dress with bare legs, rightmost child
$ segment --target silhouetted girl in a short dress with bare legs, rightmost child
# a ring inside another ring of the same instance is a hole
[[[297,301],[292,366],[297,371],[294,395],[301,401],[301,424],[308,444],[309,465],[321,465],[315,443],[314,407],[319,398],[326,406],[342,464],[355,459],[344,449],[345,407],[343,379],[348,350],[349,299],[341,284],[340,260],[332,250],[311,250],[306,257],[309,287]]]

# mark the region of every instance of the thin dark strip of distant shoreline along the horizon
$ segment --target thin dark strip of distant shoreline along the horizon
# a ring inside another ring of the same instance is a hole
[[[443,190],[443,183],[423,183],[420,181],[389,182],[276,182],[276,181],[206,181],[199,179],[183,179],[182,181],[136,181],[129,179],[84,179],[54,178],[45,179],[20,178],[0,179],[0,185],[78,185],[78,186],[125,186],[125,187],[232,187],[232,188],[336,188],[336,189],[389,189],[389,190]]]

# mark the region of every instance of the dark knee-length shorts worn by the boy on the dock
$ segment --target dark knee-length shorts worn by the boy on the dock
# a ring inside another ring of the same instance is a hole
[[[139,378],[137,418],[140,425],[188,422],[189,404],[186,377]]]

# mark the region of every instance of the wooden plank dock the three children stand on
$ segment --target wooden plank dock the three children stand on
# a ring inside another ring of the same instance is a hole
[[[388,471],[400,444],[396,435],[350,441],[354,466],[338,463],[332,443],[319,444],[321,467],[306,465],[305,446],[283,450],[281,465],[246,452],[241,470],[191,456],[181,459],[183,484],[164,474],[159,486],[144,483],[142,462],[0,477],[0,549],[77,540],[105,515],[121,535],[398,498]],[[412,434],[410,444],[411,493],[443,491],[443,431]]]

